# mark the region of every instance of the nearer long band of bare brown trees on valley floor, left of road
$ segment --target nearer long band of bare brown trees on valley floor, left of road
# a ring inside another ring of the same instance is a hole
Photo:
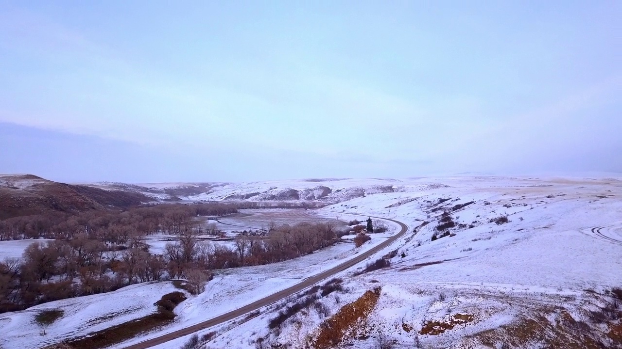
[[[282,225],[264,238],[238,238],[229,248],[200,240],[192,215],[170,211],[164,217],[170,225],[164,230],[179,241],[167,243],[162,255],[148,252],[136,227],[126,231],[121,224],[114,238],[86,229],[64,240],[33,242],[22,260],[0,262],[0,312],[164,278],[188,279],[193,292],[201,292],[208,270],[289,260],[331,245],[338,235],[332,224]]]

